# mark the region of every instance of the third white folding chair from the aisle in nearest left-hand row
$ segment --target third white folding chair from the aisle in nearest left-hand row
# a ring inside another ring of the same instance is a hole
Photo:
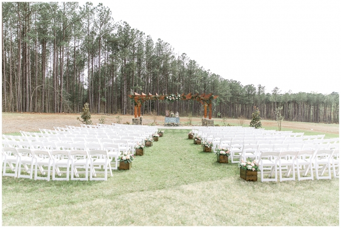
[[[50,153],[53,160],[52,180],[69,180],[71,165],[69,152],[67,150],[52,150]],[[60,170],[60,167],[66,168],[66,171]],[[56,172],[58,176],[65,173],[66,177],[56,177]]]

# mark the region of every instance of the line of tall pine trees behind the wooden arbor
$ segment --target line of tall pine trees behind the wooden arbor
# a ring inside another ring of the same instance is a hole
[[[2,108],[5,112],[133,114],[128,95],[213,93],[214,116],[338,123],[338,93],[281,93],[205,70],[167,42],[153,41],[103,4],[3,2]],[[165,110],[202,116],[199,102],[145,102],[142,114]]]

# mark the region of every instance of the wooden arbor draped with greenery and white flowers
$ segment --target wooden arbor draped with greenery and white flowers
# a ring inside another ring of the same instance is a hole
[[[129,98],[134,101],[134,117],[140,117],[141,116],[141,105],[143,102],[147,100],[168,100],[170,102],[173,101],[179,101],[179,100],[196,100],[199,101],[204,105],[204,117],[207,118],[207,108],[209,108],[209,119],[212,119],[212,101],[216,99],[218,96],[210,94],[202,94],[199,95],[198,93],[195,95],[192,95],[192,93],[189,93],[187,95],[183,94],[168,94],[168,95],[158,95],[157,93],[155,95],[152,94],[144,94],[141,95],[138,93],[134,93],[134,95],[129,95]]]

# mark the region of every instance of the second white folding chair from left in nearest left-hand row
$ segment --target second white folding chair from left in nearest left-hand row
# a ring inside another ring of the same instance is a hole
[[[17,149],[17,154],[19,156],[19,162],[18,162],[18,166],[17,166],[17,173],[18,173],[18,178],[19,177],[23,177],[23,178],[30,178],[32,179],[33,176],[33,166],[35,163],[35,157],[32,154],[32,151],[30,149],[26,149],[26,148],[18,148]],[[21,166],[24,166],[24,168],[22,168]],[[28,165],[30,165],[30,168],[28,167]],[[21,170],[25,169],[27,173],[29,173],[30,175],[23,175],[21,174]]]

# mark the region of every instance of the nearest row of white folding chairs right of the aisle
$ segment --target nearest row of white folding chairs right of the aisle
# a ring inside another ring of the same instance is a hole
[[[264,151],[259,156],[261,181],[277,181],[277,170],[279,180],[295,180],[295,170],[298,180],[313,180],[313,169],[316,179],[331,179],[331,168],[334,178],[339,177],[339,150],[292,150],[292,151]],[[283,169],[286,170],[283,177]],[[323,176],[328,170],[328,175]],[[310,172],[310,176],[307,174]],[[265,178],[264,173],[269,177]],[[272,178],[273,173],[275,174]],[[291,174],[292,173],[292,174]],[[303,176],[301,176],[303,174]],[[290,175],[292,175],[290,177]]]

